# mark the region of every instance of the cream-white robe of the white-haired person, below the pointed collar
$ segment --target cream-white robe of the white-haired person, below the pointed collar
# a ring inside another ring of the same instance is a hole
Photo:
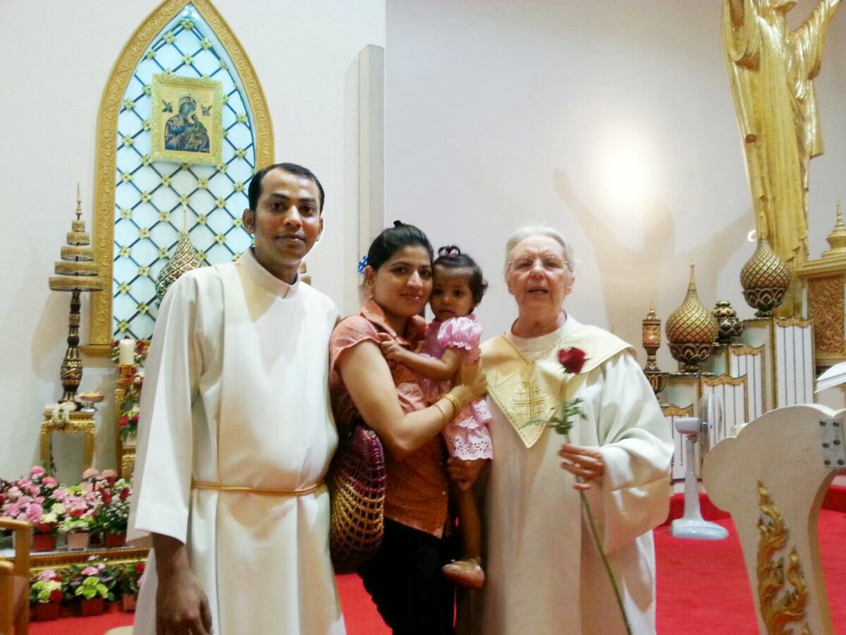
[[[552,334],[531,340],[507,337],[534,359],[580,326],[568,317]],[[605,475],[588,490],[588,500],[632,631],[655,632],[651,528],[667,517],[670,430],[628,351],[585,375],[568,394],[582,400],[585,412],[570,442],[602,448]],[[484,635],[625,632],[582,517],[574,476],[561,468],[563,438],[547,428],[527,448],[490,395],[488,406],[494,458],[485,496],[486,583],[481,620],[476,613],[471,630]]]

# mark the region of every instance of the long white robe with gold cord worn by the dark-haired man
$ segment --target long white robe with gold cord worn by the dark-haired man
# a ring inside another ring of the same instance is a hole
[[[338,434],[328,395],[337,310],[255,261],[185,273],[146,362],[129,538],[187,545],[214,632],[343,633],[322,484]],[[272,489],[285,495],[192,488]],[[151,552],[136,633],[156,632]]]

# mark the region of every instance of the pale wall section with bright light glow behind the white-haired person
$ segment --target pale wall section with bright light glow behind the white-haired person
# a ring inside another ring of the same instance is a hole
[[[580,257],[576,317],[640,349],[696,261],[700,300],[752,317],[739,273],[755,246],[720,36],[722,3],[387,0],[386,221],[457,243],[491,282],[478,315],[507,329],[503,246],[524,224],[562,229]],[[804,19],[812,3],[791,18]],[[846,200],[846,15],[816,80],[827,152],[810,168],[810,255]],[[632,148],[643,201],[615,192],[607,158]],[[622,196],[621,202],[618,198]],[[640,358],[645,357],[640,351]],[[659,362],[676,370],[666,346]],[[838,399],[842,402],[843,395]]]

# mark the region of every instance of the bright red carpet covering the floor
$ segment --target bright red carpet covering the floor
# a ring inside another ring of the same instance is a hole
[[[830,496],[840,497],[836,502],[843,502],[846,507],[846,490],[838,490]],[[678,501],[673,500],[673,510],[675,506]],[[734,526],[727,518],[719,519],[725,514],[712,506],[706,507],[705,500],[703,515],[728,527],[729,537],[713,542],[679,540],[670,535],[667,525],[656,529],[658,632],[752,635],[758,632],[755,608]],[[846,603],[843,602],[846,598],[846,550],[843,544],[846,544],[846,513],[824,509],[820,515],[822,568],[835,632],[846,635]],[[338,592],[349,635],[388,632],[358,577],[338,576]],[[30,632],[33,635],[102,635],[109,628],[131,623],[130,613],[109,613],[99,617],[35,622]]]

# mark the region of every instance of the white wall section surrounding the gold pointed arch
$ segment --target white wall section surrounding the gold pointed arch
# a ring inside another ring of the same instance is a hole
[[[368,44],[384,46],[384,2],[214,3],[244,45],[264,88],[277,161],[308,166],[327,191],[326,230],[307,262],[316,287],[331,295],[344,312],[351,312],[357,305],[352,283],[358,260],[357,55]],[[121,47],[157,4],[156,0],[0,3],[4,129],[0,205],[8,272],[0,296],[3,478],[16,478],[38,460],[41,409],[61,395],[58,368],[65,348],[69,295],[48,290],[47,277],[70,229],[77,181],[83,218],[91,229],[100,97]],[[85,305],[83,312],[85,343]],[[110,363],[85,359],[85,365],[83,389],[110,395]],[[98,467],[113,464],[111,413],[107,406],[106,418],[98,421]],[[80,439],[60,439],[62,445],[74,440]],[[57,447],[57,454],[61,452]],[[72,474],[76,469],[68,463],[62,472]]]

